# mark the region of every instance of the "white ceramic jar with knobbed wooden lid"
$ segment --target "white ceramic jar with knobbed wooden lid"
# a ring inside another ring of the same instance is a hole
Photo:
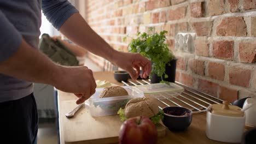
[[[240,107],[228,104],[208,107],[206,136],[211,140],[238,143],[245,130],[245,114]]]

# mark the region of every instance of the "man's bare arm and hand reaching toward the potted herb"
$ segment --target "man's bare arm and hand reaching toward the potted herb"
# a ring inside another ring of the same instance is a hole
[[[106,41],[91,29],[79,13],[69,17],[60,27],[60,31],[74,43],[127,70],[132,79],[137,79],[140,67],[142,68],[142,77],[146,78],[150,74],[152,67],[148,59],[138,53],[125,53],[112,49]]]

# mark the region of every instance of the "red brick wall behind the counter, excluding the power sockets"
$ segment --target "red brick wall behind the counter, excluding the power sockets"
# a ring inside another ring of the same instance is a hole
[[[89,0],[88,23],[114,49],[126,35],[168,31],[176,80],[233,101],[256,93],[256,0]],[[174,49],[178,32],[196,33],[193,53]],[[103,60],[92,54],[99,65]]]

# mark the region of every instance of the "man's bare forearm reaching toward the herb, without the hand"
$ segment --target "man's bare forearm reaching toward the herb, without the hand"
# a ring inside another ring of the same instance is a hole
[[[85,47],[95,55],[108,59],[108,61],[113,62],[113,57],[118,52],[112,49],[106,41],[91,29],[79,13],[75,13],[69,17],[61,26],[60,32],[74,43]]]

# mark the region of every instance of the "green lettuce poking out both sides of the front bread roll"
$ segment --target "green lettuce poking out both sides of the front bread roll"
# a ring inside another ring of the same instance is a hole
[[[122,122],[124,122],[127,118],[125,117],[125,111],[124,109],[120,108],[118,111],[118,115],[121,119]],[[160,120],[164,118],[164,111],[160,110],[158,112],[158,114],[156,114],[153,117],[150,117],[149,119],[154,123],[154,124],[158,124],[160,122]]]

